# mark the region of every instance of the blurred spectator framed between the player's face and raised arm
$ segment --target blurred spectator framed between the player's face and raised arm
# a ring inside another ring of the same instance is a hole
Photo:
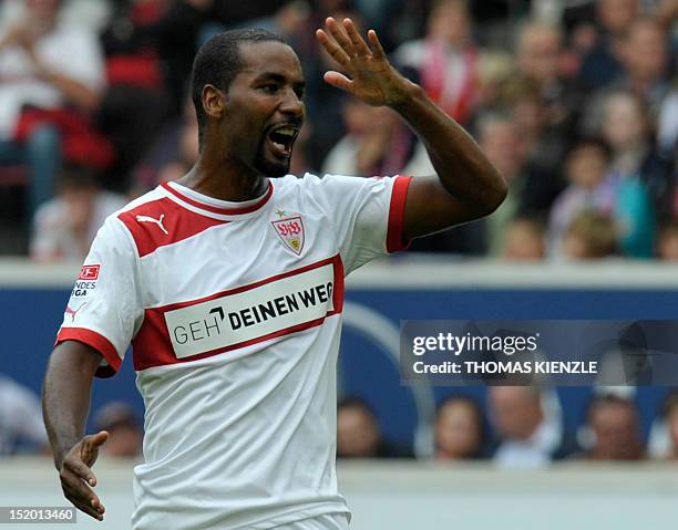
[[[323,174],[335,175],[432,175],[427,152],[398,114],[348,100],[343,106],[349,134],[330,150]]]

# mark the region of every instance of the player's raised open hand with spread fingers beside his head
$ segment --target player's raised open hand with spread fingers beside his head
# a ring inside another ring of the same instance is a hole
[[[350,76],[329,71],[325,73],[327,83],[372,106],[397,107],[407,100],[413,83],[391,66],[374,30],[368,31],[368,45],[351,19],[339,24],[330,17],[325,28],[316,31],[318,41]]]

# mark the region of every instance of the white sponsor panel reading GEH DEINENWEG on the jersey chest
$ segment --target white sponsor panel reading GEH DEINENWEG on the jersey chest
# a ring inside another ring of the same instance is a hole
[[[165,313],[177,358],[300,326],[335,310],[333,263]]]

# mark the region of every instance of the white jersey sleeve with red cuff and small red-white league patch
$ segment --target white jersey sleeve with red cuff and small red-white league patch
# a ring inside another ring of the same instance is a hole
[[[79,341],[103,355],[100,377],[114,375],[143,321],[137,258],[131,236],[116,218],[96,233],[80,271],[55,345]]]

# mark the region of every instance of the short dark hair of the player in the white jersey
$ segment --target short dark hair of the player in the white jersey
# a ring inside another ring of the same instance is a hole
[[[203,131],[207,117],[203,110],[203,87],[210,84],[226,92],[243,69],[239,53],[240,43],[268,41],[287,44],[280,35],[271,31],[246,29],[230,30],[214,35],[198,50],[193,61],[191,95],[197,115],[201,146],[203,145]]]

